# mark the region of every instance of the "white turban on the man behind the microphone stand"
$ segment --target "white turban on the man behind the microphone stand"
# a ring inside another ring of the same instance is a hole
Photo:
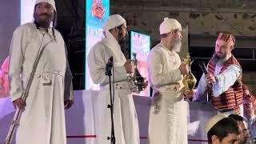
[[[106,19],[103,29],[107,31],[114,27],[121,26],[122,24],[126,24],[125,18],[122,18],[119,14],[110,15],[110,17]]]

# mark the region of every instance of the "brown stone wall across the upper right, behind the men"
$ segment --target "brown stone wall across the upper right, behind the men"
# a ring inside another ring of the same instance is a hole
[[[129,30],[150,34],[152,45],[159,40],[158,26],[163,18],[169,17],[176,18],[182,26],[188,26],[188,34],[214,37],[220,31],[229,32],[252,42],[250,48],[256,48],[255,1],[113,0],[110,3],[110,13],[125,17]],[[238,42],[239,46],[248,47],[246,41]],[[251,66],[256,66],[255,61],[252,63]],[[243,75],[243,82],[255,92],[255,72],[244,72]]]

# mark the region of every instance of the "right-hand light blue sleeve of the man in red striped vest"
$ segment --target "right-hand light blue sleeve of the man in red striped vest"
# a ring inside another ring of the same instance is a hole
[[[214,97],[218,97],[220,94],[228,90],[230,86],[233,86],[241,73],[242,69],[240,66],[230,65],[221,74],[215,75],[218,81],[213,83]]]

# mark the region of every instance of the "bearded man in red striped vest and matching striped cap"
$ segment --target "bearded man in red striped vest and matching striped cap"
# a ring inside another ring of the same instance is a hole
[[[221,114],[242,115],[242,67],[234,58],[235,39],[231,34],[220,33],[214,56],[202,74],[194,101],[210,98],[210,103]]]

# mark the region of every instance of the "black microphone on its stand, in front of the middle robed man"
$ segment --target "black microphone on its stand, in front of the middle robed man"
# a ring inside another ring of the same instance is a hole
[[[107,105],[107,108],[110,109],[111,115],[111,136],[107,137],[107,140],[110,140],[110,144],[115,144],[115,136],[114,136],[114,99],[112,97],[112,90],[111,90],[111,70],[112,70],[113,62],[106,64],[106,72],[105,74],[109,76],[109,83],[110,83],[110,104]],[[114,89],[114,87],[113,87]]]

